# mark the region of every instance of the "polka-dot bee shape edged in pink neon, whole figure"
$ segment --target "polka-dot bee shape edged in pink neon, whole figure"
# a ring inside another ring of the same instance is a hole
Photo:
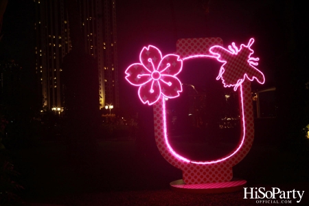
[[[254,67],[258,65],[259,58],[251,57],[253,50],[250,47],[253,43],[254,39],[251,38],[248,45],[240,45],[240,49],[236,47],[235,43],[232,43],[233,47],[229,45],[229,50],[220,46],[209,49],[211,54],[217,56],[219,62],[224,62],[216,79],[221,78],[225,87],[234,87],[236,91],[245,78],[250,81],[256,79],[260,84],[264,84],[263,73]]]

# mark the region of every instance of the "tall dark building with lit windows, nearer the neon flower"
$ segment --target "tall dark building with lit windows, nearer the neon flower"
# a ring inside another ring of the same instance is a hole
[[[115,0],[82,0],[80,19],[85,51],[98,62],[100,109],[119,107]]]

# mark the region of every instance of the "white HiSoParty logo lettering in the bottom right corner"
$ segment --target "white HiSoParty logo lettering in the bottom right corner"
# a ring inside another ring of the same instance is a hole
[[[265,190],[265,187],[244,187],[244,199],[297,199],[300,203],[305,191],[282,191],[278,187],[271,187],[272,190]],[[258,202],[257,202],[258,203]]]

